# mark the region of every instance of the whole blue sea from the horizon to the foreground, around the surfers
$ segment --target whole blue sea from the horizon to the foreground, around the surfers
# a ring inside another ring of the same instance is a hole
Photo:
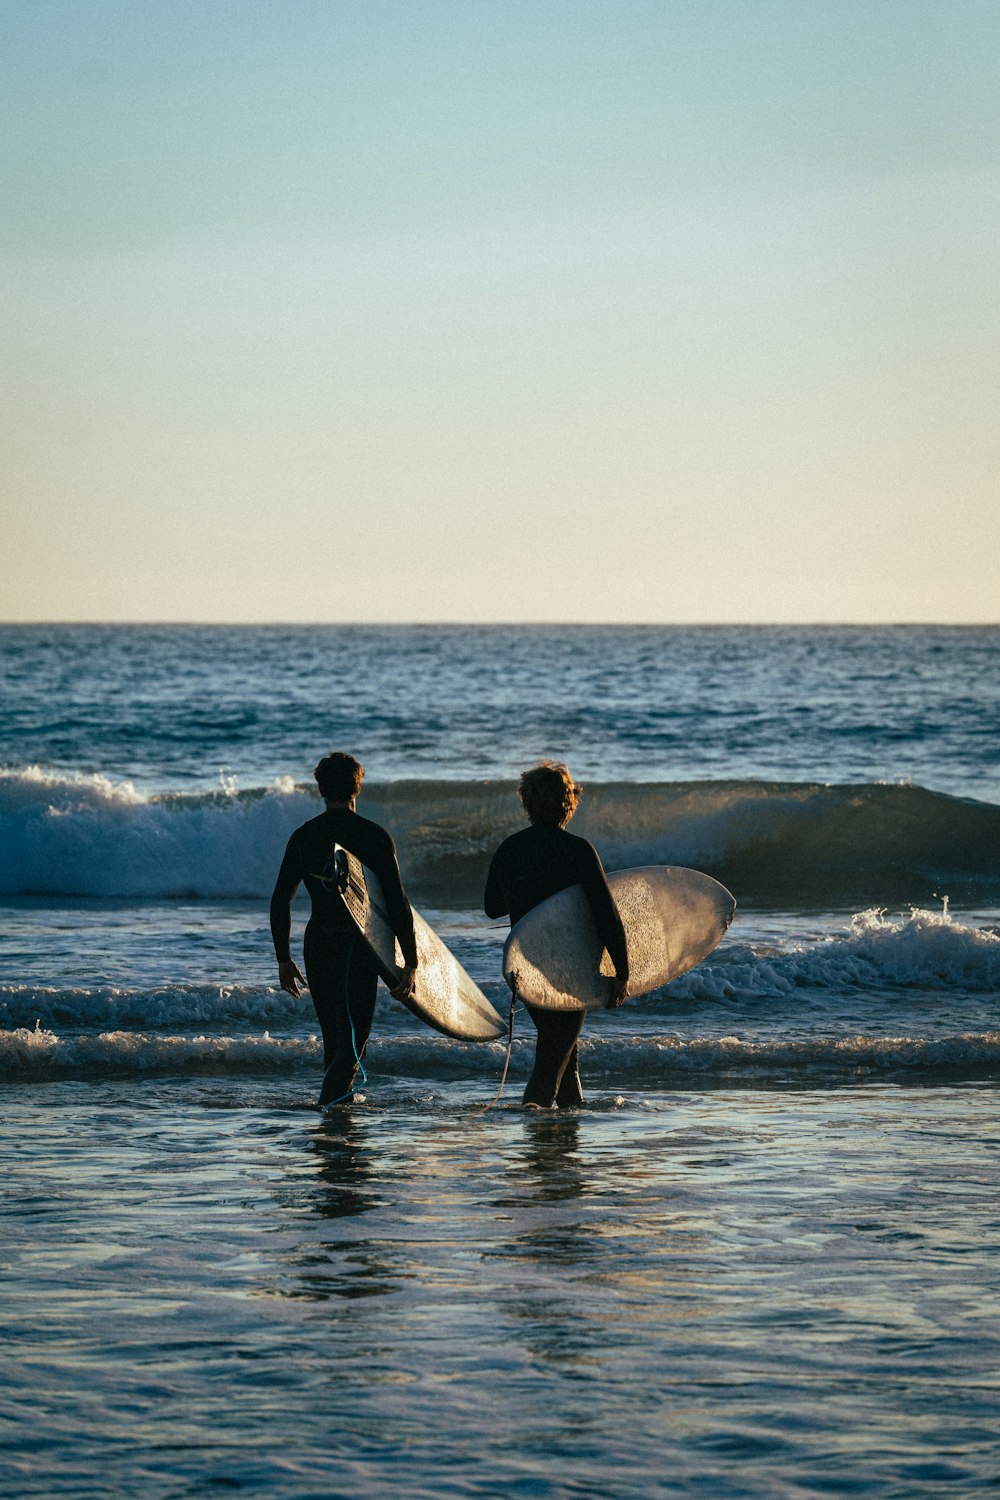
[[[3,1492],[996,1491],[999,648],[0,628]],[[324,1116],[265,908],[330,748],[504,1012],[543,756],[733,927],[588,1018],[579,1112],[519,1107],[523,1016],[496,1098],[382,994]]]

